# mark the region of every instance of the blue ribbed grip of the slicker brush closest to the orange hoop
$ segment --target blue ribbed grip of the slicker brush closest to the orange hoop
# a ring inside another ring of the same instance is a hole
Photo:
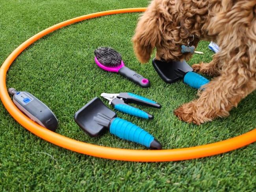
[[[154,140],[154,137],[147,131],[118,117],[112,120],[109,131],[119,138],[139,143],[147,148],[150,147],[151,142]]]

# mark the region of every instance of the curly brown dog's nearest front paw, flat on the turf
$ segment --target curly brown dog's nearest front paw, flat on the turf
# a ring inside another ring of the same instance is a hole
[[[200,125],[204,122],[211,121],[210,118],[199,113],[200,109],[195,106],[194,102],[185,103],[178,109],[174,110],[174,114],[182,121]]]

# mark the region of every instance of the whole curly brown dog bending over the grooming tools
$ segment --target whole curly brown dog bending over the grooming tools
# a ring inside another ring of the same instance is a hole
[[[199,98],[174,111],[181,120],[202,124],[229,115],[241,99],[256,89],[256,0],[153,0],[139,19],[134,51],[147,63],[156,59],[188,60],[181,45],[214,41],[220,52],[208,63],[194,64],[195,72],[215,76],[198,92]]]

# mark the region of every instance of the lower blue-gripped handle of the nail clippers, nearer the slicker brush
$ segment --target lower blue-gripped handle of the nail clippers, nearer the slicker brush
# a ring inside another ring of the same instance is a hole
[[[121,111],[123,113],[136,116],[136,117],[145,118],[145,119],[149,118],[148,114],[145,111],[142,111],[142,110],[132,107],[130,105],[117,104],[117,105],[115,105],[115,109],[117,109],[118,111]]]

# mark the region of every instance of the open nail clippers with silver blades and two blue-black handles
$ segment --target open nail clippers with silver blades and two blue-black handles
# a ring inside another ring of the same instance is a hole
[[[145,119],[153,119],[154,116],[126,103],[137,103],[148,107],[161,108],[160,104],[148,98],[129,92],[121,92],[118,94],[102,93],[100,96],[109,100],[109,104],[111,104],[116,110]]]

